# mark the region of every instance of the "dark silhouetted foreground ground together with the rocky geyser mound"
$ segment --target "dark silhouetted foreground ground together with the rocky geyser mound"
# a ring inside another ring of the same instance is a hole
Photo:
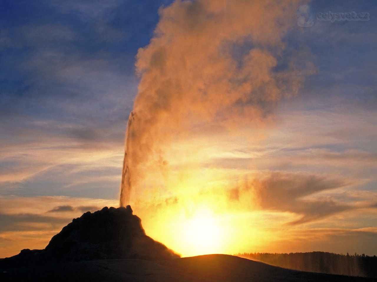
[[[179,258],[148,237],[126,208],[103,208],[75,218],[43,250],[0,259],[0,282],[101,281],[372,281],[288,270],[230,255]],[[375,281],[375,280],[374,280]]]

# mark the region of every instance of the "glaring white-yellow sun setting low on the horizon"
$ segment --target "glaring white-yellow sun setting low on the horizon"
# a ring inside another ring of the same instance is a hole
[[[209,211],[198,212],[182,224],[187,256],[221,253],[224,230]]]

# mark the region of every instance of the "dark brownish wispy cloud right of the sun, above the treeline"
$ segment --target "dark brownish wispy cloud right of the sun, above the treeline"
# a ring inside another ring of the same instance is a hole
[[[257,208],[300,215],[288,224],[296,225],[320,220],[330,215],[360,208],[331,198],[317,197],[322,191],[336,190],[352,182],[328,176],[272,172],[254,175],[230,189],[230,200],[252,199]]]

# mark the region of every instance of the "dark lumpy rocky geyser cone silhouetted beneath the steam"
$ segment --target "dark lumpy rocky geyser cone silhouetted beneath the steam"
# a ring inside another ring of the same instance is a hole
[[[0,261],[0,265],[126,258],[156,261],[179,255],[148,237],[130,206],[105,207],[72,220],[52,237],[44,250],[21,250],[18,255]]]

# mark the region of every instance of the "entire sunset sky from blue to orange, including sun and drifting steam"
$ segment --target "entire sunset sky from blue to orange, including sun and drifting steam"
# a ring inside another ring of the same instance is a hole
[[[0,257],[119,205],[132,110],[155,240],[377,254],[377,5],[226,2],[0,3]],[[370,18],[300,27],[304,4]]]

